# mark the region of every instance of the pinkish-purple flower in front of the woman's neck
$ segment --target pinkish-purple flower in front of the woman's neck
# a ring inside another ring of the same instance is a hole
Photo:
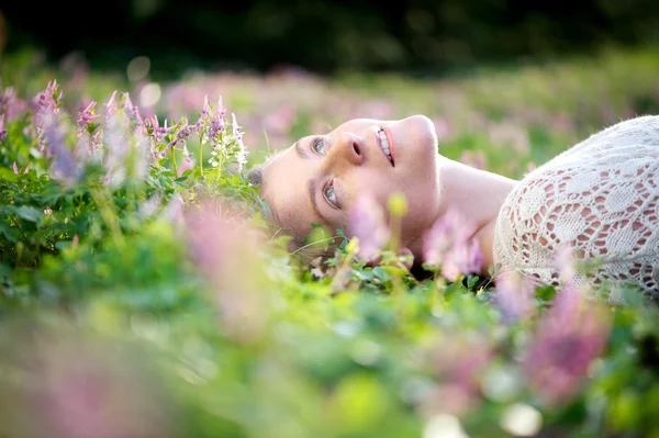
[[[450,281],[463,273],[479,272],[483,256],[473,237],[476,231],[476,225],[460,212],[447,211],[424,236],[424,261],[442,266],[442,274]]]

